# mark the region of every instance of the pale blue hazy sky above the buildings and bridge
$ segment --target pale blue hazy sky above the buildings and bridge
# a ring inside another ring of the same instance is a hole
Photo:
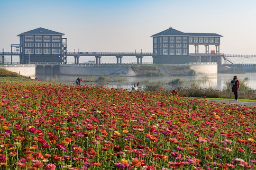
[[[43,27],[65,34],[68,52],[152,52],[150,36],[172,27],[222,35],[220,53],[256,54],[256,0],[0,0],[0,7],[0,51],[11,51],[18,34]]]

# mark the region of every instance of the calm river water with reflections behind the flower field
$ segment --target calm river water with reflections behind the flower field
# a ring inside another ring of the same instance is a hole
[[[165,77],[135,77],[129,76],[125,77],[126,81],[116,82],[116,81],[106,81],[106,82],[93,82],[93,81],[82,81],[83,85],[107,85],[109,87],[115,88],[124,88],[130,89],[134,83],[140,82],[140,85],[143,86],[143,82],[157,82],[162,84],[163,87],[174,88],[175,85],[168,85],[168,83],[177,78],[184,81],[183,87],[191,87],[191,85],[196,85],[202,88],[213,88],[221,90],[225,87],[226,81],[231,81],[233,76],[238,76],[239,80],[243,80],[248,77],[247,85],[253,89],[256,89],[256,73],[246,73],[246,74],[216,74],[216,75],[205,75],[205,76],[165,76]],[[64,84],[75,84],[75,80],[78,76],[66,76],[66,75],[36,75],[38,80],[41,81],[51,81],[55,83],[64,83]],[[86,76],[82,77],[83,80],[87,79]],[[95,76],[96,77],[96,76]],[[35,78],[35,77],[31,77]],[[96,77],[97,78],[97,77]],[[110,77],[111,80],[114,80],[115,77]]]

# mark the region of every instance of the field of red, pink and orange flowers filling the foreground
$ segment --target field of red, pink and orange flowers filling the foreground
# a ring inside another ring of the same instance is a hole
[[[255,107],[0,80],[0,170],[256,168]]]

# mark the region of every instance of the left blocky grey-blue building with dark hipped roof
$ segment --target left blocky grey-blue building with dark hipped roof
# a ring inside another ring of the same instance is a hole
[[[64,34],[45,28],[37,28],[18,34],[20,63],[66,62],[67,39]]]

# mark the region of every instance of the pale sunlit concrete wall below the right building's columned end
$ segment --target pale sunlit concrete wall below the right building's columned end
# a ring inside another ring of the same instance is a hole
[[[218,64],[192,64],[191,68],[196,71],[197,75],[218,73]]]

